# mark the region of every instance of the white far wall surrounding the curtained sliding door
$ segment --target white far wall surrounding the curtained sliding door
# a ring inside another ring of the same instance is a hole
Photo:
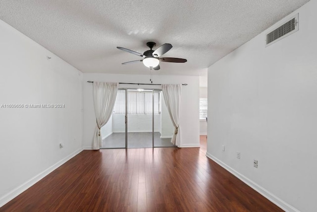
[[[95,114],[92,98],[92,84],[86,81],[109,81],[109,82],[130,82],[149,83],[149,75],[132,74],[84,74],[84,136],[85,148],[91,148],[92,137],[95,129]],[[199,146],[199,76],[164,76],[154,75],[153,81],[156,84],[179,84],[187,83],[183,86],[182,108],[180,118],[181,147]],[[132,86],[120,84],[120,87],[127,88],[160,88],[160,86]]]

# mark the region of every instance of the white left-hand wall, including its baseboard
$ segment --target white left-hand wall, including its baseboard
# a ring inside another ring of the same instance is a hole
[[[83,74],[1,20],[0,32],[0,105],[65,105],[0,108],[1,207],[82,150]]]

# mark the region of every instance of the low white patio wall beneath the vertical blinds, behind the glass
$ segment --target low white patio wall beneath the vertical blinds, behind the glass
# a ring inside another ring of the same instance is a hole
[[[125,114],[112,115],[113,133],[125,133]],[[154,132],[159,132],[159,114],[154,114]],[[128,132],[152,132],[152,114],[128,114]]]

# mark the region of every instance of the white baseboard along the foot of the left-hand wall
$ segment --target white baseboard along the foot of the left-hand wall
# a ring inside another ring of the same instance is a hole
[[[35,183],[37,183],[38,181],[40,181],[42,178],[44,178],[45,176],[47,176],[48,174],[50,174],[53,170],[55,170],[56,168],[58,168],[59,166],[61,166],[63,163],[65,163],[66,161],[68,161],[70,158],[74,157],[76,154],[80,153],[83,150],[83,148],[79,148],[76,151],[72,152],[71,154],[69,154],[68,156],[66,156],[65,158],[59,160],[57,163],[55,163],[54,165],[52,165],[51,167],[47,168],[46,170],[44,170],[43,172],[39,173],[38,175],[34,176],[33,178],[31,178],[30,180],[26,181],[25,183],[23,183],[22,185],[16,187],[15,189],[13,189],[12,191],[10,191],[8,194],[5,194],[4,196],[0,197],[0,207],[4,206],[6,203],[8,203],[9,201],[13,200],[15,197],[17,197],[19,194],[21,194],[22,192],[24,192],[25,190],[27,190],[28,188],[30,188],[31,186],[33,186]]]

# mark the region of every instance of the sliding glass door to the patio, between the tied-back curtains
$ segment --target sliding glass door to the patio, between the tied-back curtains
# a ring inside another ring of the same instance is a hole
[[[112,116],[102,128],[102,147],[174,146],[174,127],[162,95],[158,89],[118,89]]]

